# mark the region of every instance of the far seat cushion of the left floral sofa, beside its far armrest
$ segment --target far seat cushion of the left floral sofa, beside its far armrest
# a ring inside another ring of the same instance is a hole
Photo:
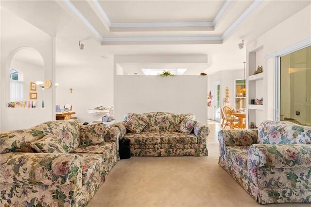
[[[104,162],[111,155],[116,155],[116,143],[115,142],[104,142],[101,144],[93,144],[90,146],[79,146],[77,149],[70,153],[92,153],[92,154],[101,154],[104,155]]]

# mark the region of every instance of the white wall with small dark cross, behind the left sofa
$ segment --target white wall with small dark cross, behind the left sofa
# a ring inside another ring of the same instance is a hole
[[[113,66],[101,68],[56,68],[56,104],[72,105],[72,111],[82,122],[100,119],[101,115],[87,114],[87,109],[113,105]],[[70,93],[72,88],[72,93]]]

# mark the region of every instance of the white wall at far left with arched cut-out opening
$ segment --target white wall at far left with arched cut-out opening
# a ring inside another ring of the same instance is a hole
[[[47,35],[25,20],[1,7],[0,39],[0,132],[29,128],[44,121],[55,119],[55,38]],[[9,69],[14,54],[23,47],[37,50],[44,61],[45,80],[52,81],[52,87],[45,90],[44,108],[7,108],[10,100]]]

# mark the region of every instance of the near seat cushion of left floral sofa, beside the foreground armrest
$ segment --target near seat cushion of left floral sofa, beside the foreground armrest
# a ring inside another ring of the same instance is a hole
[[[96,173],[97,168],[102,168],[103,155],[93,153],[77,153],[82,161],[82,184],[86,184]]]

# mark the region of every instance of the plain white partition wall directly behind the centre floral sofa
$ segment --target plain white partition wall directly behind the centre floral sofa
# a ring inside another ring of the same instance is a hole
[[[192,113],[207,124],[207,77],[116,75],[114,103],[117,121],[126,113],[164,111]]]

